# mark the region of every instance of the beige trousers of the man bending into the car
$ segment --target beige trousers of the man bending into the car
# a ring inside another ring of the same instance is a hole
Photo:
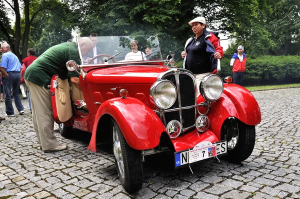
[[[42,150],[56,147],[59,143],[53,133],[54,118],[50,90],[25,80],[30,94],[34,131]]]

